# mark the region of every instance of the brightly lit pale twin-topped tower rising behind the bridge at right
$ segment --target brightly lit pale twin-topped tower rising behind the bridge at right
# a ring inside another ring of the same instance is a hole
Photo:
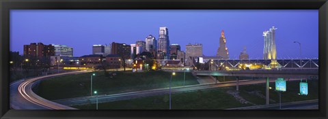
[[[264,37],[264,49],[263,49],[263,59],[275,60],[277,57],[277,50],[275,47],[275,30],[277,28],[272,27],[269,31],[263,32]]]

